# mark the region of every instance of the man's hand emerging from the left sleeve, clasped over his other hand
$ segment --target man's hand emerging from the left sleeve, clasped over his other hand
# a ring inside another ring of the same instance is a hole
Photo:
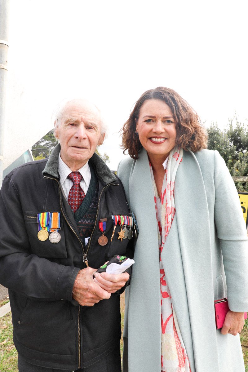
[[[73,286],[73,298],[82,306],[94,306],[104,298],[109,298],[110,293],[99,287],[94,280],[93,274],[96,269],[86,267],[80,270]]]

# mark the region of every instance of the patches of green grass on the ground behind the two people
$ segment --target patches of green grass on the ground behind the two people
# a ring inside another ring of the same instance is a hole
[[[0,307],[5,305],[9,300],[0,301]],[[122,329],[124,317],[124,295],[121,296],[121,315]],[[11,313],[0,318],[0,371],[1,372],[18,372],[17,368],[17,351],[12,340],[13,327]],[[245,327],[240,334],[243,356],[245,361],[245,372],[248,372],[248,319],[245,321]],[[123,341],[120,341],[121,353],[123,351]]]

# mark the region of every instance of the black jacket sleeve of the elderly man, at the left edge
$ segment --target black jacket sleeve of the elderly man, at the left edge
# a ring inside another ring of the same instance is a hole
[[[71,301],[80,269],[32,254],[19,192],[8,176],[0,191],[0,221],[0,283],[30,298]]]

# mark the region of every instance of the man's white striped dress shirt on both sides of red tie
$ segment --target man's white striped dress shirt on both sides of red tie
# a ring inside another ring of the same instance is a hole
[[[68,195],[70,192],[71,187],[73,186],[72,180],[67,178],[67,176],[72,172],[72,170],[64,163],[64,161],[60,157],[58,157],[58,173],[60,175],[60,184],[62,186],[62,189],[65,193],[66,199],[68,199]],[[80,186],[84,190],[84,193],[86,195],[89,185],[90,185],[90,179],[91,179],[91,173],[90,173],[90,167],[88,164],[88,161],[86,164],[84,164],[83,167],[78,169],[78,172],[83,176],[83,179],[80,182]]]

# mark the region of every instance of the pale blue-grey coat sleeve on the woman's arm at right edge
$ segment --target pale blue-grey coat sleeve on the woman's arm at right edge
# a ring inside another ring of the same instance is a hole
[[[238,193],[215,151],[215,225],[221,242],[227,297],[232,311],[248,310],[248,238]]]

